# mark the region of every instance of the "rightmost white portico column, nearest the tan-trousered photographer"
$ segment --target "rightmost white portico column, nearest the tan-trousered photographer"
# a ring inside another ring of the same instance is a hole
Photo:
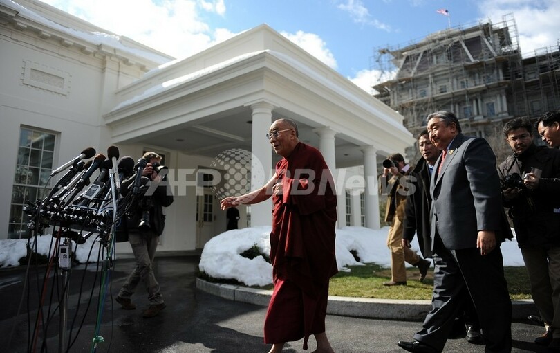
[[[364,179],[366,188],[364,201],[366,205],[366,227],[371,229],[379,229],[379,194],[377,194],[377,154],[375,147],[364,146]]]

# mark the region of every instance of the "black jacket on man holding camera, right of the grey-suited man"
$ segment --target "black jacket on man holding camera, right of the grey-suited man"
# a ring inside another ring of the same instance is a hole
[[[532,145],[498,166],[502,183],[506,175],[518,173],[523,177],[532,170],[542,171],[539,188],[523,188],[516,199],[503,199],[510,209],[517,244],[520,248],[560,246],[560,150]]]

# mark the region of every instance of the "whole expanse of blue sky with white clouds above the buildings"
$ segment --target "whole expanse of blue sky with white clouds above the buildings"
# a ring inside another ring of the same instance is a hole
[[[15,0],[17,2],[17,0]],[[560,39],[560,0],[44,0],[118,35],[187,57],[268,24],[366,91],[378,48],[513,14],[524,54]],[[449,17],[436,10],[447,9]],[[528,55],[524,55],[528,56]]]

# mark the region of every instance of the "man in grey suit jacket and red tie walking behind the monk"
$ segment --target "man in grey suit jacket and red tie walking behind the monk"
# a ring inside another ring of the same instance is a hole
[[[430,114],[431,142],[442,154],[430,183],[434,262],[432,309],[415,341],[399,341],[409,352],[442,352],[465,288],[474,302],[485,352],[512,351],[512,303],[503,274],[500,244],[512,233],[501,203],[496,156],[483,138],[461,134],[449,111]]]

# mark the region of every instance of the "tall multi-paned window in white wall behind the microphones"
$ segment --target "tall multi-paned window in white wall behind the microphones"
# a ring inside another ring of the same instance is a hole
[[[26,127],[20,129],[8,238],[27,237],[28,217],[24,215],[24,205],[27,201],[43,199],[50,192],[47,182],[53,170],[54,152],[54,134]]]

